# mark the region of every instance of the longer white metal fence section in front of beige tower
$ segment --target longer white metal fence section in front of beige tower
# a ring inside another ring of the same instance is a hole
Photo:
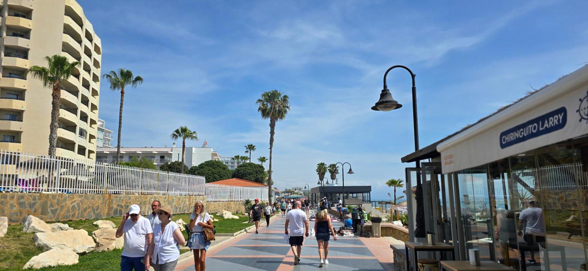
[[[0,150],[0,191],[204,195],[205,178]]]

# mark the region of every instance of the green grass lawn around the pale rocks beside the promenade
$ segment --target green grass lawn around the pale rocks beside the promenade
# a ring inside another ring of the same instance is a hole
[[[222,217],[212,214],[215,219],[219,221],[213,222],[216,226],[217,233],[233,233],[245,229],[253,223],[243,223],[248,221],[248,216],[239,216],[239,219],[223,219]],[[182,219],[186,223],[190,222],[190,214],[178,214],[173,216],[173,221]],[[116,226],[121,224],[122,216],[102,219],[88,219],[80,221],[61,221],[68,224],[74,229],[85,229],[88,235],[92,235],[93,231],[98,229],[97,226],[92,225],[98,220],[109,220],[115,223]],[[52,222],[48,222],[52,223]],[[39,255],[43,252],[42,249],[36,248],[33,242],[34,233],[22,232],[22,225],[9,225],[8,233],[4,238],[0,239],[0,270],[22,270],[22,267],[33,256]],[[185,238],[188,238],[184,232]],[[39,270],[120,270],[121,263],[121,249],[112,250],[109,252],[89,252],[85,255],[79,256],[79,263],[72,266],[48,267]],[[186,252],[189,249],[181,249],[180,252]]]

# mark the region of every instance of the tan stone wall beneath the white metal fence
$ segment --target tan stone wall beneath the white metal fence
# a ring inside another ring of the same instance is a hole
[[[171,205],[176,214],[192,212],[196,201],[206,200],[204,196],[0,193],[0,216],[8,216],[11,224],[21,223],[28,215],[43,221],[108,218],[122,216],[132,204],[141,206],[141,214],[146,215],[154,199]],[[233,202],[223,204],[232,206]],[[222,206],[220,202],[215,205]]]

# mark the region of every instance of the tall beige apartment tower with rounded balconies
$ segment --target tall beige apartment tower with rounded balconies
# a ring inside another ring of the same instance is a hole
[[[94,159],[102,45],[75,0],[0,0],[0,148],[47,155],[51,89],[26,75],[60,54],[82,63],[61,82],[56,155]]]

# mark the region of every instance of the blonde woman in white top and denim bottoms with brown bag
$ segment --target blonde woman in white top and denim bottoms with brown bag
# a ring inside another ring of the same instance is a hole
[[[189,242],[192,244],[190,249],[194,253],[196,271],[204,271],[206,269],[206,250],[210,248],[211,242],[204,240],[202,230],[203,228],[214,229],[214,226],[212,225],[211,216],[204,209],[202,201],[196,201],[196,204],[194,204],[194,211],[190,215],[189,228],[193,232]]]

